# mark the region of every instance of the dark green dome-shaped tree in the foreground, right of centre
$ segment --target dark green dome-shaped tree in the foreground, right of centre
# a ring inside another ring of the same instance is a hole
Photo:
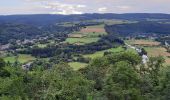
[[[106,77],[104,94],[109,100],[140,100],[140,81],[139,74],[130,63],[117,62]]]

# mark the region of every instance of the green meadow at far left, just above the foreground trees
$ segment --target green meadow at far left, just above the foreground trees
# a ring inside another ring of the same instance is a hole
[[[26,54],[19,54],[18,55],[18,61],[20,63],[26,63],[32,60],[35,60],[35,57],[32,57],[31,55],[26,55]],[[6,62],[14,63],[16,61],[16,56],[10,56],[10,57],[5,57],[4,60]]]

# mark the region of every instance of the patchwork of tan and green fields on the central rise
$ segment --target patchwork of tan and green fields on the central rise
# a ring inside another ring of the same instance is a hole
[[[84,45],[97,42],[100,36],[106,35],[104,25],[87,26],[78,32],[69,34],[65,42],[70,44]]]

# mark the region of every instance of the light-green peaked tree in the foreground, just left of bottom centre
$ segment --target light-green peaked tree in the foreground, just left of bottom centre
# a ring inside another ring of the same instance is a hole
[[[42,76],[44,80],[44,99],[86,100],[92,92],[92,82],[80,73],[73,71],[67,64],[60,64]]]

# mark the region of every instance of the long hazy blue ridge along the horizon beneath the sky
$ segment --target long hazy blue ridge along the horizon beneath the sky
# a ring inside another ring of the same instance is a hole
[[[66,21],[83,21],[94,19],[123,19],[123,20],[139,20],[162,19],[170,21],[170,14],[149,14],[149,13],[127,13],[127,14],[81,14],[81,15],[8,15],[0,16],[0,23],[24,23],[32,25],[47,25],[57,22]]]

